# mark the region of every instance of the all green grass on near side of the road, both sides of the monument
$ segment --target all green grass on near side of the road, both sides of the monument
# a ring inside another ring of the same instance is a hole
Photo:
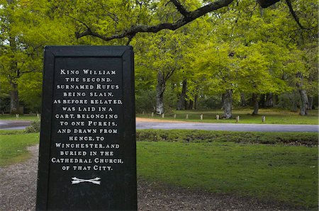
[[[315,133],[269,133],[267,139],[274,140],[268,144],[258,144],[259,140],[254,139],[265,135],[254,132],[229,132],[228,138],[223,138],[225,132],[208,135],[187,130],[155,130],[155,135],[160,139],[137,142],[139,178],[303,209],[318,207],[318,147],[276,144],[293,137],[318,143]],[[137,137],[144,140],[154,134],[138,130]],[[184,137],[189,142],[184,142]],[[241,141],[233,142],[235,137]],[[38,144],[38,140],[39,133],[1,130],[0,166],[28,159],[26,147]],[[287,140],[284,143],[290,144]]]

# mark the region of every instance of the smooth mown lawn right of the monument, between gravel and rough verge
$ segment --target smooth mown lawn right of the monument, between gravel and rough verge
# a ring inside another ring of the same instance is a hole
[[[138,176],[213,193],[318,207],[318,149],[233,142],[138,142]]]

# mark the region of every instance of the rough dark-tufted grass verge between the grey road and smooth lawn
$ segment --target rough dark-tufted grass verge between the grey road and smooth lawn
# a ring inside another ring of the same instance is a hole
[[[316,132],[231,132],[208,130],[137,130],[146,142],[235,142],[245,144],[318,145]]]

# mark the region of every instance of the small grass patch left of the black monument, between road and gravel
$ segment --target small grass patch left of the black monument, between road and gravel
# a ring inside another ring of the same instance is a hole
[[[23,131],[2,130],[0,133],[0,166],[25,161],[30,157],[26,147],[38,144],[39,133],[25,134]]]

